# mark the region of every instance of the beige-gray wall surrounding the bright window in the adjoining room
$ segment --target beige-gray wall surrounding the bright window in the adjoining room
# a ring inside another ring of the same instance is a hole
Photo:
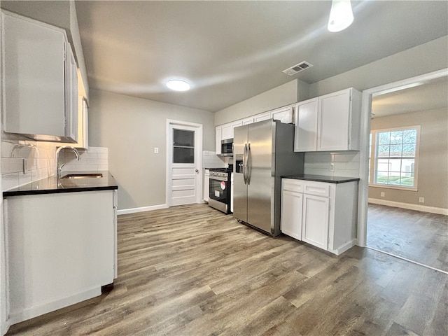
[[[448,209],[448,109],[374,118],[371,130],[421,125],[418,191],[369,187],[369,198]],[[384,192],[385,197],[380,193]],[[419,203],[425,197],[425,203]]]

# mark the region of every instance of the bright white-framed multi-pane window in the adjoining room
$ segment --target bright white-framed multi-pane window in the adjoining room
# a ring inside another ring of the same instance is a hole
[[[416,190],[419,134],[420,126],[371,132],[370,186]]]

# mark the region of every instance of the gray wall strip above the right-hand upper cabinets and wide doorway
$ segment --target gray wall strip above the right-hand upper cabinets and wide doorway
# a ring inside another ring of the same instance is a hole
[[[337,76],[307,84],[295,79],[216,112],[215,125],[302,102],[347,87],[366,90],[448,67],[448,36],[398,52]]]

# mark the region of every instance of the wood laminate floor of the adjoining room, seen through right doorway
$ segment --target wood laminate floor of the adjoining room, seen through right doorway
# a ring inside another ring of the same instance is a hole
[[[367,246],[448,272],[448,216],[369,204]]]

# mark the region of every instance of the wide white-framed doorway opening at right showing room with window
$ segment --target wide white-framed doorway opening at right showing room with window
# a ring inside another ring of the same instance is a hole
[[[358,209],[360,246],[444,273],[447,73],[363,92]]]

